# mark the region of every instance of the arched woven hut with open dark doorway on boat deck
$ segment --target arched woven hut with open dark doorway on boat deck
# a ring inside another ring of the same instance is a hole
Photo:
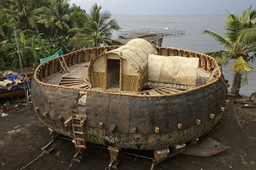
[[[126,45],[101,54],[90,62],[89,81],[93,87],[140,91],[147,81],[148,54],[157,54],[155,46],[134,38]]]

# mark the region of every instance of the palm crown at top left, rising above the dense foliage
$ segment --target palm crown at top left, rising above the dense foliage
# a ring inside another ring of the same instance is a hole
[[[59,29],[70,30],[68,23],[71,21],[72,7],[69,6],[69,0],[51,0],[51,2],[52,8],[43,6],[35,12],[41,14],[38,23],[44,23],[46,28],[57,27],[55,32],[57,36]]]

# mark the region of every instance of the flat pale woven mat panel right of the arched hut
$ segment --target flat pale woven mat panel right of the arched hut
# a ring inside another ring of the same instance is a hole
[[[148,55],[148,81],[196,85],[199,58]]]

